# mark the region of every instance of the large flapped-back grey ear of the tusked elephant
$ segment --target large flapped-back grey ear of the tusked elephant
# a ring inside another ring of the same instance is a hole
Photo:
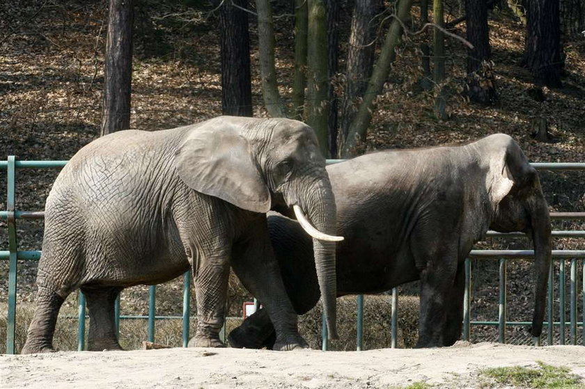
[[[175,166],[191,189],[249,211],[270,210],[270,191],[250,145],[229,126],[194,128],[176,152]]]

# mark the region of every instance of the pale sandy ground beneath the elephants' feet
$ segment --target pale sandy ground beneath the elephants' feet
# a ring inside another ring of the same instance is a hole
[[[481,386],[486,367],[569,367],[585,383],[585,347],[494,343],[443,349],[276,352],[159,349],[0,356],[1,388],[388,388]],[[485,383],[484,383],[485,385]]]

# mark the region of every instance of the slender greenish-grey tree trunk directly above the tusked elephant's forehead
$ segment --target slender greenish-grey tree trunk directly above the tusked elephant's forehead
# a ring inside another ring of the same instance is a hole
[[[274,65],[274,26],[272,25],[272,6],[269,0],[256,0],[258,12],[258,45],[260,46],[260,74],[262,93],[266,110],[273,118],[286,116],[286,108],[281,102],[276,68]]]

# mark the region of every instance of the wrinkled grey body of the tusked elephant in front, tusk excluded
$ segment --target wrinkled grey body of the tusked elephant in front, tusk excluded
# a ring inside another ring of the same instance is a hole
[[[47,198],[37,308],[23,354],[53,350],[59,308],[78,288],[91,318],[88,349],[120,349],[114,328],[120,290],[162,283],[189,267],[198,310],[190,346],[223,346],[231,266],[267,308],[274,349],[306,347],[265,215],[270,209],[290,214],[295,204],[315,228],[335,231],[325,159],[302,122],[226,116],[93,141],[63,168]],[[313,243],[335,335],[335,246]]]

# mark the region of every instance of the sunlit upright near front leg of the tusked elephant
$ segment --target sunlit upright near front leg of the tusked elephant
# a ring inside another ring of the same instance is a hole
[[[229,271],[228,253],[223,251],[194,260],[197,329],[189,347],[225,347],[219,331],[224,325]]]

